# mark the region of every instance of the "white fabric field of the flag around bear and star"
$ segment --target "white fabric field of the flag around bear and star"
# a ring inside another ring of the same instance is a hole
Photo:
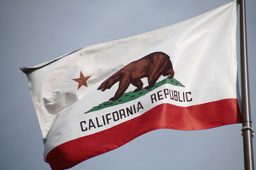
[[[175,25],[86,46],[50,61],[51,63],[35,66],[38,69],[28,73],[29,87],[43,138],[47,138],[45,155],[61,143],[122,123],[106,125],[102,129],[86,133],[81,132],[79,126],[79,122],[84,119],[100,117],[111,113],[111,110],[124,108],[123,105],[118,105],[107,108],[104,113],[95,111],[93,114],[84,114],[93,106],[108,101],[118,89],[116,83],[104,92],[97,90],[102,81],[130,62],[152,52],[164,52],[170,56],[175,71],[174,78],[185,86],[166,85],[166,88],[191,92],[193,97],[193,101],[187,103],[168,103],[192,106],[237,98],[236,10],[234,1]],[[79,78],[80,71],[84,76],[91,77],[87,81],[88,87],[82,86],[77,90],[78,83],[73,79]],[[144,87],[147,86],[147,79],[144,78],[143,83]],[[130,85],[126,92],[134,89]],[[147,96],[154,93],[156,91]],[[137,99],[133,103],[138,101],[141,100]],[[134,117],[140,116],[156,104],[150,105],[150,101],[145,101],[143,111]],[[126,105],[129,106],[129,103]],[[129,118],[125,119],[127,120]]]

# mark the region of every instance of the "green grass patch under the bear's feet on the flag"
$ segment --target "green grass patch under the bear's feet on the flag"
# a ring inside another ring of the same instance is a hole
[[[112,102],[104,102],[102,104],[99,104],[98,106],[93,107],[91,110],[86,111],[85,113],[90,113],[92,111],[97,111],[97,110],[102,110],[104,108],[108,108],[110,106],[115,106],[118,104],[122,104],[122,103],[127,103],[129,101],[132,101],[134,99],[138,99],[139,97],[147,94],[148,92],[156,89],[157,87],[160,87],[161,85],[164,85],[166,83],[169,83],[171,85],[176,85],[176,86],[180,86],[180,87],[184,87],[184,85],[182,85],[182,83],[180,83],[178,80],[175,80],[174,78],[169,79],[169,78],[165,78],[162,81],[157,82],[154,87],[152,87],[151,89],[145,90],[145,89],[141,89],[138,92],[127,92],[125,94],[123,94],[122,97],[120,97],[118,100],[116,101],[112,101]]]

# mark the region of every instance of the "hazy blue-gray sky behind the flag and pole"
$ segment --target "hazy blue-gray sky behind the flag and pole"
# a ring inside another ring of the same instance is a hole
[[[51,169],[43,160],[44,145],[28,80],[19,67],[35,66],[83,46],[175,24],[228,2],[230,0],[0,0],[0,169]],[[256,1],[246,0],[254,121],[255,7]],[[240,129],[241,124],[204,131],[152,131],[72,169],[243,169]],[[256,146],[255,138],[253,145]]]

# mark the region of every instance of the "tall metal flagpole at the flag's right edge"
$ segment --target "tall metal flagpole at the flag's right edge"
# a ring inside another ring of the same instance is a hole
[[[254,170],[252,146],[252,120],[250,114],[250,92],[248,80],[248,59],[246,39],[245,0],[240,0],[240,55],[241,55],[241,93],[243,113],[243,144],[244,144],[244,169]]]

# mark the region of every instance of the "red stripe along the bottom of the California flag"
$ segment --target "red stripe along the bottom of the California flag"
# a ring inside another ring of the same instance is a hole
[[[47,154],[45,161],[54,170],[67,169],[156,129],[190,131],[241,122],[236,99],[223,99],[189,107],[160,104],[140,117],[56,146]]]

